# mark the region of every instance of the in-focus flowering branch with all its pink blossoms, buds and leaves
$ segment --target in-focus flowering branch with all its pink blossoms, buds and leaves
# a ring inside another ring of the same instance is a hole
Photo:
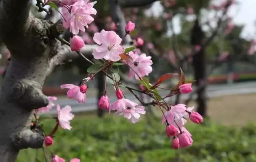
[[[128,1],[127,1],[128,2]],[[146,2],[146,1],[145,1]],[[98,106],[100,109],[112,112],[114,111],[116,115],[122,115],[131,123],[137,123],[141,117],[146,113],[145,106],[152,105],[157,107],[162,112],[162,123],[166,124],[166,135],[172,138],[172,147],[178,149],[179,147],[185,148],[191,146],[193,143],[192,135],[186,130],[184,125],[186,124],[186,118],[189,118],[194,123],[202,123],[203,118],[196,112],[193,112],[193,107],[186,107],[184,104],[174,105],[166,101],[167,98],[175,96],[177,94],[186,94],[192,92],[191,83],[185,84],[185,76],[181,70],[180,82],[172,89],[165,89],[160,87],[161,84],[170,80],[173,76],[177,74],[167,73],[163,74],[158,78],[158,80],[152,84],[146,78],[152,72],[152,60],[150,56],[145,53],[134,52],[136,47],[124,48],[123,42],[126,36],[130,37],[130,34],[135,29],[135,23],[129,21],[125,26],[120,25],[120,31],[125,31],[125,34],[121,38],[114,31],[105,31],[94,33],[93,41],[96,43],[92,50],[92,56],[97,63],[89,60],[81,51],[85,48],[84,40],[78,35],[80,31],[85,32],[88,28],[88,24],[94,21],[92,15],[96,15],[97,11],[93,8],[96,2],[88,2],[87,0],[74,0],[72,1],[60,1],[60,0],[45,0],[41,2],[38,0],[39,11],[45,11],[44,5],[50,5],[52,8],[56,8],[56,4],[61,6],[60,11],[62,15],[62,26],[65,29],[70,30],[72,37],[70,42],[65,41],[61,37],[59,40],[62,42],[62,47],[58,50],[58,54],[51,60],[50,67],[48,68],[48,74],[53,70],[53,68],[63,62],[66,59],[72,59],[72,55],[63,55],[63,51],[69,51],[69,49],[76,55],[84,59],[85,62],[92,64],[87,72],[89,76],[86,78],[81,78],[79,85],[74,84],[63,84],[60,86],[62,89],[68,89],[67,97],[69,99],[76,100],[80,104],[86,103],[86,92],[88,91],[88,82],[94,79],[94,77],[103,72],[106,78],[110,79],[110,84],[113,85],[115,89],[116,101],[110,103],[110,96],[107,92],[107,80],[105,80],[104,95],[101,96]],[[113,1],[114,3],[114,1]],[[120,11],[120,6],[115,6],[116,11]],[[58,8],[56,8],[58,9]],[[124,23],[123,17],[119,17],[122,23]],[[116,20],[116,21],[119,21]],[[122,26],[124,29],[121,29]],[[137,39],[137,46],[140,46],[144,42],[143,40]],[[70,47],[70,48],[69,48]],[[70,52],[70,51],[69,51]],[[132,88],[120,82],[119,67],[128,67],[130,79],[136,79],[136,82],[140,84],[140,90]],[[135,98],[140,102],[140,104],[129,100],[125,97],[123,88],[128,89]],[[159,94],[158,90],[166,90],[168,94],[162,96]],[[151,98],[149,103],[145,103],[140,100],[138,93],[145,94]],[[48,97],[49,104],[45,107],[36,109],[34,112],[34,120],[31,123],[31,130],[37,131],[40,128],[40,114],[46,113],[52,107],[55,106],[54,101],[57,100],[54,96]],[[74,118],[74,114],[71,113],[72,108],[68,105],[61,108],[56,105],[57,117],[49,117],[56,121],[55,126],[48,133],[43,132],[44,144],[45,146],[50,146],[54,143],[54,135],[58,131],[59,127],[62,129],[71,130],[70,120]],[[45,147],[43,150],[46,149]],[[44,156],[48,157],[46,151],[44,151]],[[63,162],[64,159],[57,155],[50,154],[52,162]],[[78,159],[73,159],[71,162],[78,162]]]

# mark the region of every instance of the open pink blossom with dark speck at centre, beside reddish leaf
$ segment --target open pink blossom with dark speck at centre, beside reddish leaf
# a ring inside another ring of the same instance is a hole
[[[136,55],[133,52],[129,52],[128,55],[132,57],[132,61],[126,61],[130,66],[130,72],[128,74],[130,78],[135,76],[136,79],[139,79],[152,72],[151,65],[153,62],[151,61],[150,56],[147,57],[144,53],[142,55]]]

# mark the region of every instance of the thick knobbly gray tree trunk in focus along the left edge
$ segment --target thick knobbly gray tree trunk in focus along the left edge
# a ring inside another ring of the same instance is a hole
[[[0,91],[0,162],[14,162],[20,149],[40,148],[44,140],[30,123],[34,109],[48,105],[41,90],[60,33],[29,9],[30,0],[0,0],[0,35],[12,53]]]

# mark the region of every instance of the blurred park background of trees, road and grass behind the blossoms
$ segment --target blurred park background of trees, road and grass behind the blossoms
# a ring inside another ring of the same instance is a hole
[[[120,0],[121,2],[122,0]],[[139,1],[139,0],[138,0]],[[48,154],[65,159],[81,158],[82,162],[256,162],[256,0],[148,0],[142,6],[122,6],[126,21],[136,23],[131,38],[139,38],[142,53],[152,56],[155,82],[168,72],[186,75],[194,91],[178,95],[170,103],[195,106],[205,117],[201,125],[188,123],[194,144],[186,149],[173,150],[160,123],[161,113],[147,107],[140,122],[132,124],[122,117],[98,110],[98,98],[104,89],[104,75],[99,74],[89,83],[86,103],[78,104],[66,98],[61,84],[79,84],[90,66],[81,59],[58,66],[46,79],[44,94],[57,96],[61,106],[70,105],[75,113],[72,130],[60,130]],[[119,24],[112,13],[114,0],[98,0],[94,23],[86,33],[80,33],[87,45],[94,44],[93,34],[102,29],[117,33]],[[119,2],[119,1],[118,1]],[[34,3],[35,4],[35,3]],[[60,15],[31,11],[38,18],[57,21]],[[69,34],[65,33],[67,40]],[[10,52],[0,49],[0,83],[4,79]],[[93,59],[92,55],[87,55]],[[138,88],[127,76],[128,69],[120,68],[122,82]],[[172,88],[179,78],[164,82]],[[124,90],[126,97],[136,100]],[[168,93],[168,92],[161,92]],[[108,84],[108,95],[115,101],[114,89]],[[140,96],[148,100],[145,96]],[[56,109],[50,114],[54,115]],[[54,121],[42,119],[44,129],[50,131]],[[42,150],[22,150],[18,162],[43,162]]]

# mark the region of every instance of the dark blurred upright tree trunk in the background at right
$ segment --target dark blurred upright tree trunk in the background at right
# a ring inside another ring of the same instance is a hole
[[[200,27],[199,21],[196,20],[192,29],[191,44],[201,45],[204,39],[204,33]],[[205,49],[202,47],[197,53],[193,55],[194,78],[197,86],[197,104],[198,113],[206,116],[206,60]]]

